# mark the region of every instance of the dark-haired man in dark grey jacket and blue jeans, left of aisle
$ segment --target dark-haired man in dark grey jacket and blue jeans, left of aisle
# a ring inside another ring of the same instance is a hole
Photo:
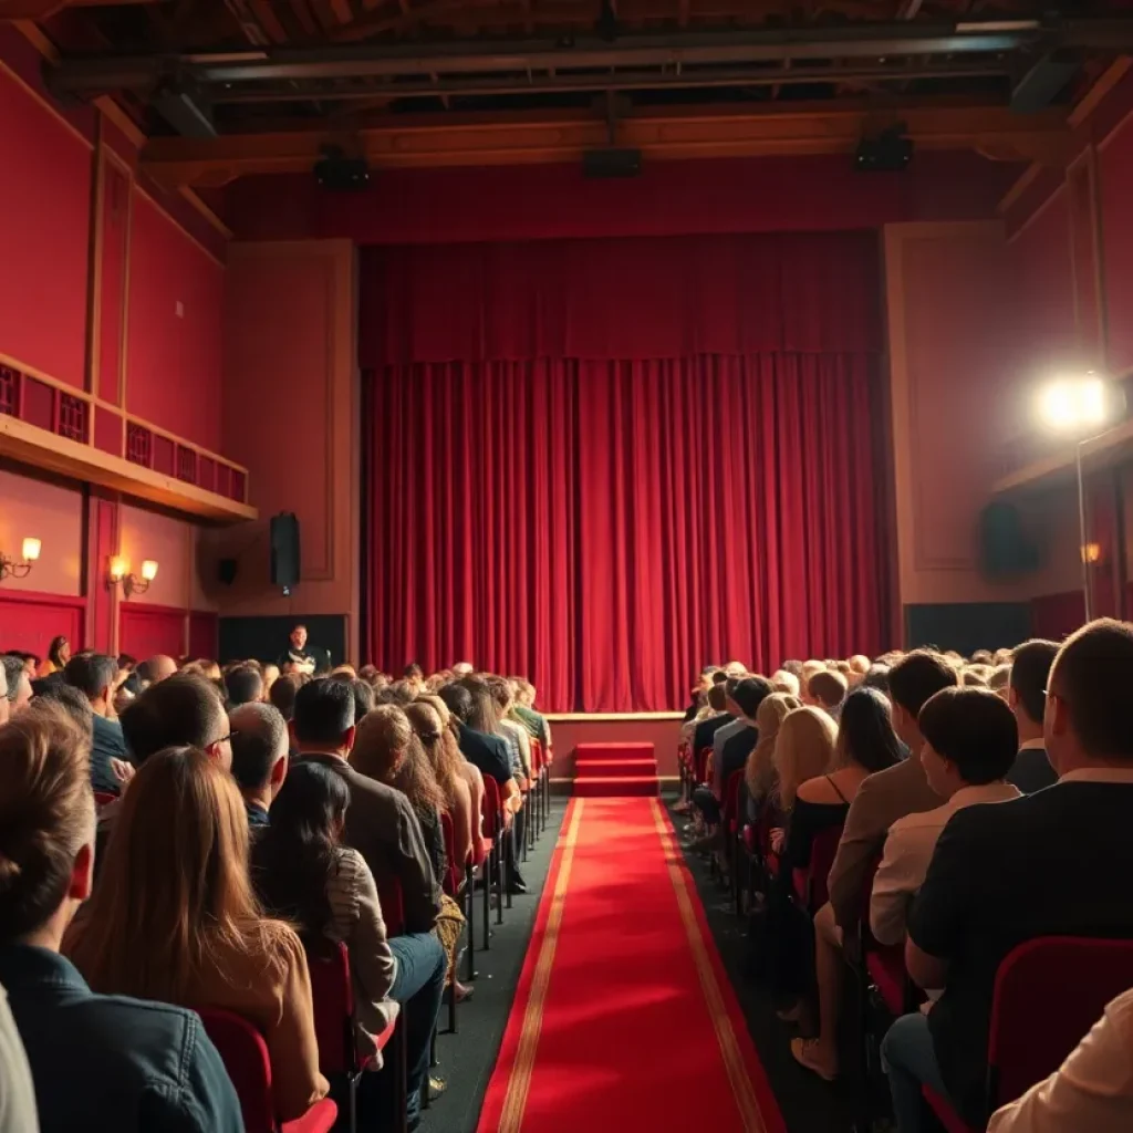
[[[349,786],[350,806],[343,841],[366,859],[377,883],[378,896],[389,892],[392,881],[401,888],[404,932],[390,937],[390,948],[398,961],[390,997],[401,1004],[406,1021],[407,1097],[410,1127],[414,1127],[421,1083],[428,1073],[429,1045],[441,1011],[448,965],[444,948],[432,935],[441,911],[441,887],[433,876],[420,825],[409,800],[400,791],[359,774],[347,763],[355,741],[355,700],[350,685],[325,678],[305,684],[295,698],[291,733],[299,759],[330,767]],[[385,1089],[392,1085],[391,1075],[392,1070],[378,1075]]]

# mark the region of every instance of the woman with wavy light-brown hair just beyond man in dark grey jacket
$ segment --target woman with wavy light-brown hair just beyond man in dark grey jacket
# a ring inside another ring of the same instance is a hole
[[[441,826],[444,795],[420,740],[414,734],[409,717],[402,708],[397,705],[378,705],[364,718],[350,752],[350,765],[363,775],[395,787],[409,800],[433,861],[433,872],[437,881],[443,884],[449,871],[449,855]],[[449,957],[450,980],[455,972],[457,946],[463,927],[465,914],[460,911],[460,905],[444,894],[434,931]],[[461,999],[470,994],[470,989],[457,989]]]

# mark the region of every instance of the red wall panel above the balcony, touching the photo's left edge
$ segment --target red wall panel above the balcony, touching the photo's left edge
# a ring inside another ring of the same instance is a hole
[[[84,383],[91,143],[0,60],[0,355]]]

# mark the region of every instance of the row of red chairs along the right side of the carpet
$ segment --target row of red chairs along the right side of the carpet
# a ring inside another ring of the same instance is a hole
[[[680,751],[685,796],[706,778],[710,750]],[[736,914],[768,892],[780,863],[770,846],[775,816],[741,813],[743,773],[730,776],[722,806],[723,857]],[[811,917],[826,903],[841,827],[821,832],[809,867],[792,878],[795,903]],[[854,1030],[861,1125],[868,1127],[870,1098],[880,1076],[880,1041],[894,1019],[919,1008],[925,996],[905,971],[904,948],[887,947],[869,931],[869,901],[880,853],[870,863],[859,903],[857,932],[847,935],[843,956],[851,969],[858,1025]],[[1000,1106],[1053,1074],[1077,1046],[1107,1003],[1133,987],[1133,940],[1051,936],[1026,940],[1000,963],[991,1003],[985,1121],[970,1125],[946,1098],[926,1089],[925,1100],[947,1133],[980,1133]]]

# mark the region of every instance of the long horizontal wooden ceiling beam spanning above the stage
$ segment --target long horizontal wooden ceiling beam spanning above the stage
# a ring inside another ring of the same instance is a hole
[[[620,145],[649,159],[852,153],[862,136],[904,123],[926,150],[974,150],[993,160],[1057,164],[1070,130],[1064,110],[1013,114],[998,105],[776,103],[656,108],[619,121]],[[293,129],[215,138],[153,138],[145,170],[172,188],[220,186],[253,173],[312,169],[338,145],[377,168],[537,164],[578,160],[608,143],[602,117],[581,111],[377,117],[349,130]]]

